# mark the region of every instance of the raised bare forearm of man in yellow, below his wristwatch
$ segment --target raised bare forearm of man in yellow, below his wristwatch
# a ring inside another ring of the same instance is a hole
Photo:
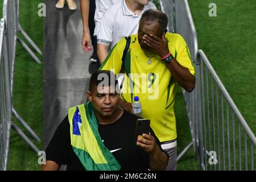
[[[172,73],[177,84],[187,92],[192,92],[195,88],[196,78],[189,72],[188,68],[181,66],[175,59],[172,59],[171,63],[166,63],[166,67]]]

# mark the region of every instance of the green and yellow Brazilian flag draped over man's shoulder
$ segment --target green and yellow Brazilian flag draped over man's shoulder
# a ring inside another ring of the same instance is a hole
[[[68,110],[71,145],[87,171],[117,171],[117,160],[98,133],[98,121],[91,102]]]

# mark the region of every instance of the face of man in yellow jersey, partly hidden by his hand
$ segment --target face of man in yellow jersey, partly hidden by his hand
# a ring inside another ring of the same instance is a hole
[[[162,38],[162,32],[159,30],[159,24],[158,22],[148,22],[146,19],[142,19],[141,23],[139,24],[139,30],[138,30],[138,41],[139,44],[141,45],[141,48],[143,51],[151,51],[151,48],[148,47],[144,41],[143,41],[143,36],[150,34],[156,35],[159,38]]]

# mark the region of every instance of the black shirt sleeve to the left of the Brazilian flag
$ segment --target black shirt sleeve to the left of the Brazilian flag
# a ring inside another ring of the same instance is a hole
[[[69,133],[68,117],[65,117],[60,125],[57,127],[51,142],[46,148],[46,159],[52,160],[57,164],[67,164],[69,159],[69,148],[71,146],[71,139]]]

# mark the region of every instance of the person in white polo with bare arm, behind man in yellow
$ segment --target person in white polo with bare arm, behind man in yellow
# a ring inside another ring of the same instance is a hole
[[[144,11],[156,9],[148,0],[122,0],[106,10],[97,36],[97,55],[100,63],[108,56],[109,48],[123,37],[137,34],[139,19]]]

